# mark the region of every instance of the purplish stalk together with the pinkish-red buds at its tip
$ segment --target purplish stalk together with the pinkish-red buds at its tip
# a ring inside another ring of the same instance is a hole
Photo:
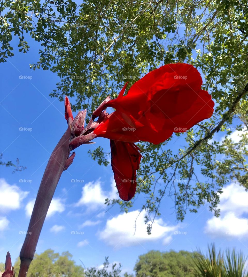
[[[102,113],[102,109],[104,108],[105,103],[109,100],[109,97],[106,98],[96,109],[95,117],[99,115],[101,116],[102,114],[101,120],[103,120],[104,117],[108,115],[105,112]],[[35,200],[35,206],[28,225],[28,232],[20,252],[21,265],[18,275],[19,277],[26,277],[27,275],[29,265],[35,255],[36,245],[38,243],[46,214],[61,174],[64,170],[67,170],[73,162],[75,153],[73,152],[69,157],[70,151],[82,144],[94,143],[90,141],[97,136],[94,134],[93,130],[99,123],[93,122],[93,118],[91,117],[87,127],[84,128],[85,116],[86,110],[79,112],[73,119],[70,101],[67,97],[65,98],[65,118],[67,119],[69,127],[54,148],[42,177]],[[80,134],[77,133],[77,129],[82,129]]]

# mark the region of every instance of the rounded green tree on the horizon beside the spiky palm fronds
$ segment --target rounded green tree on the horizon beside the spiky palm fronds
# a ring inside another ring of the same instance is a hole
[[[149,251],[139,256],[134,266],[136,277],[192,277],[194,253]]]

